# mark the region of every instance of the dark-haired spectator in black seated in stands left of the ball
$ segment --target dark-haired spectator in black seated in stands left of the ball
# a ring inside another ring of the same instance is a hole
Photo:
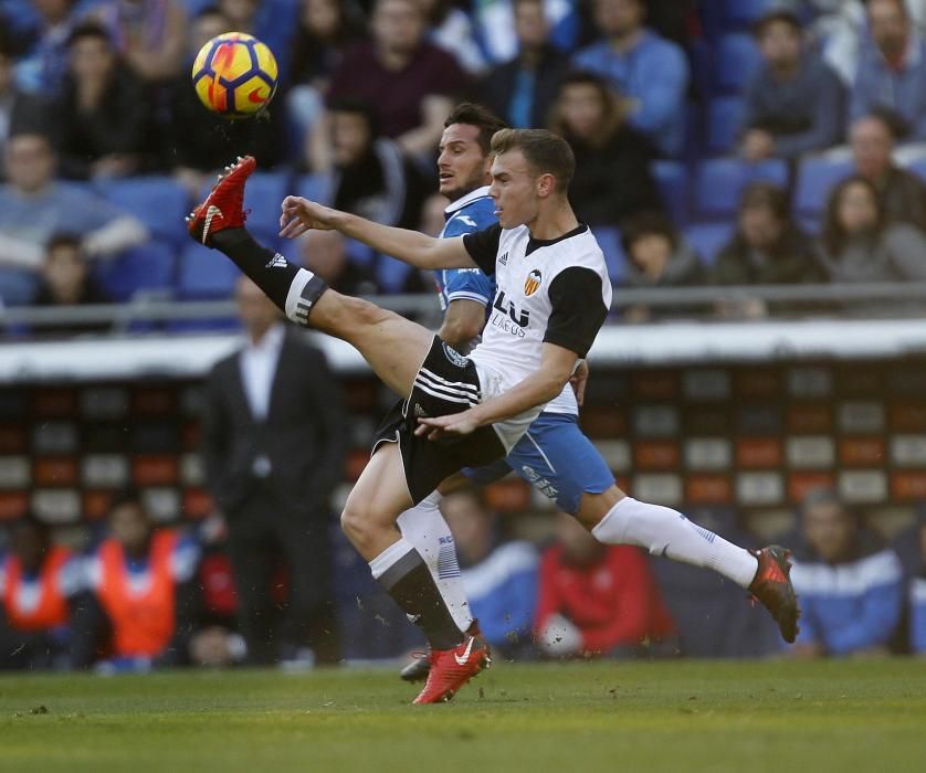
[[[74,180],[126,177],[151,165],[149,99],[105,28],[77,27],[55,112],[59,173]]]

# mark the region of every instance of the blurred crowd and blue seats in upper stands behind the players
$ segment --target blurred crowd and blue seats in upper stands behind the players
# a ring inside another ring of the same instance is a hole
[[[461,98],[569,138],[574,204],[615,285],[922,279],[924,23],[923,0],[11,0],[0,298],[48,303],[42,255],[74,235],[97,288],[55,303],[231,297],[234,273],[210,271],[182,214],[241,153],[262,170],[260,235],[275,240],[292,191],[423,227]],[[260,119],[212,115],[190,86],[196,52],[229,30],[280,61]],[[429,292],[356,244],[335,262],[345,288]]]

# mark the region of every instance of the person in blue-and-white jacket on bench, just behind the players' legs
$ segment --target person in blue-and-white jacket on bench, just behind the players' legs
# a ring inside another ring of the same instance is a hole
[[[441,510],[456,542],[463,585],[483,636],[503,657],[529,656],[537,608],[539,557],[533,544],[508,540],[477,491],[444,497]],[[453,544],[444,546],[441,565],[453,565]]]

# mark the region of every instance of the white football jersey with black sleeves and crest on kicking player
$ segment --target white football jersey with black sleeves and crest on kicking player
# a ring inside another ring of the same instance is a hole
[[[483,399],[506,392],[540,368],[544,342],[583,358],[611,307],[604,255],[586,225],[556,240],[532,240],[526,225],[493,225],[463,237],[473,261],[495,275],[495,299],[470,353]],[[511,449],[544,405],[495,425]]]

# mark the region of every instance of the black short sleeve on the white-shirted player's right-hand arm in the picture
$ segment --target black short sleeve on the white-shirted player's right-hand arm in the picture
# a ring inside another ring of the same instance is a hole
[[[601,282],[590,268],[579,267],[566,268],[554,277],[545,343],[556,343],[579,357],[588,354],[608,316]]]

